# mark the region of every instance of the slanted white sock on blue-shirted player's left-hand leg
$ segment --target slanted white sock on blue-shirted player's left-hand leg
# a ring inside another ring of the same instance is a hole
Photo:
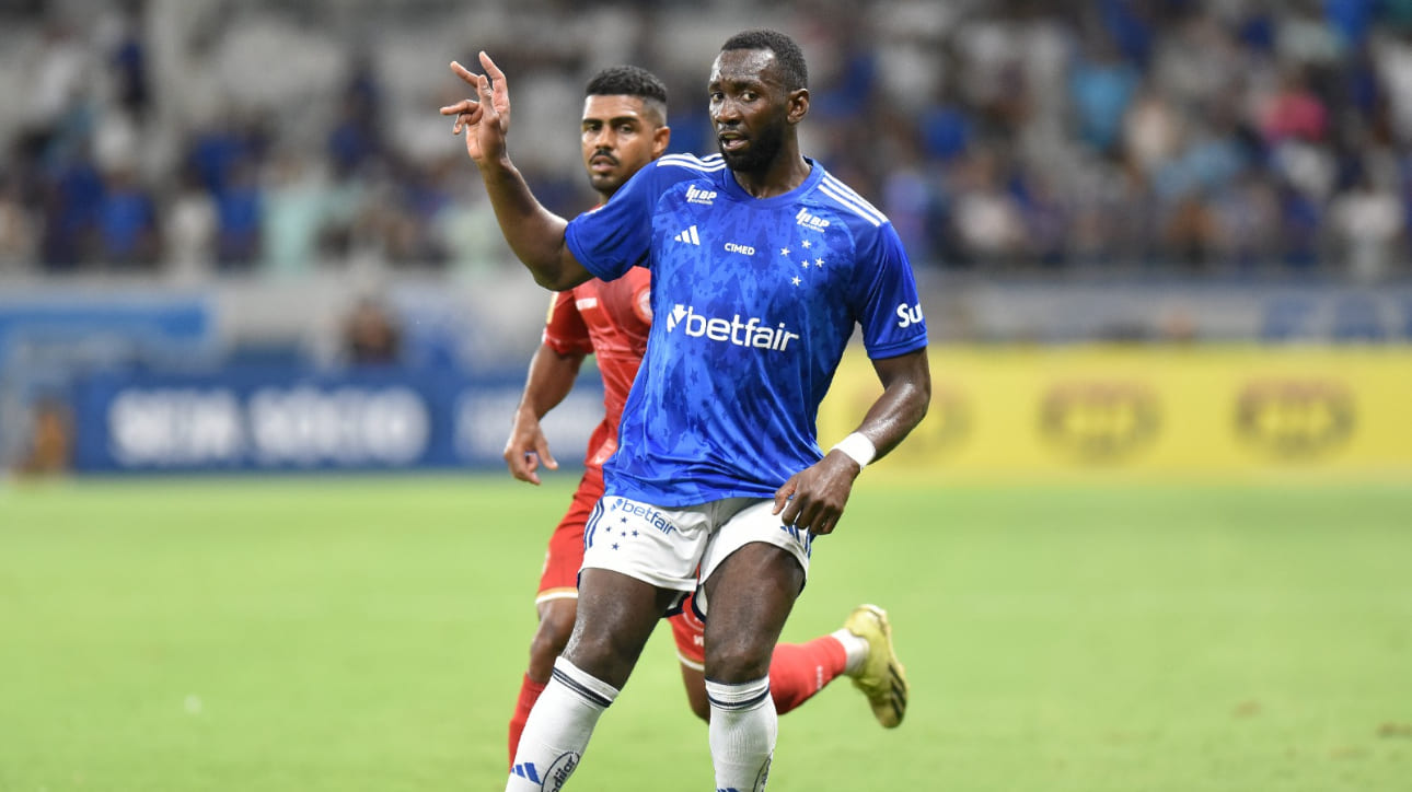
[[[554,675],[530,710],[530,720],[515,748],[505,792],[558,789],[579,767],[599,716],[617,697],[617,689],[587,675],[572,662],[554,661]]]

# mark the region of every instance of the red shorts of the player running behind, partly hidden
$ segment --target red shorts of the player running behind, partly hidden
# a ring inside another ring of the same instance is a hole
[[[534,601],[579,597],[579,568],[583,566],[583,527],[593,514],[593,507],[603,497],[603,470],[589,466],[573,491],[573,501],[559,527],[549,536],[549,549],[544,555],[544,572],[539,573],[539,593]],[[706,665],[705,625],[692,610],[688,599],[682,613],[668,618],[672,623],[672,637],[676,640],[676,658],[698,671]]]

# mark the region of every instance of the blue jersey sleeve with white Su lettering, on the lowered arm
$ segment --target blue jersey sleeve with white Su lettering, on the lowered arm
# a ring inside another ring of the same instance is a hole
[[[860,240],[853,311],[868,357],[897,357],[926,346],[926,319],[912,265],[891,223]]]

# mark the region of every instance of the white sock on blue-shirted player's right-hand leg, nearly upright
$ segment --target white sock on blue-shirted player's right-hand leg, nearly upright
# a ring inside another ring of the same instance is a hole
[[[770,697],[770,678],[726,685],[706,680],[710,700],[710,758],[716,789],[758,792],[770,776],[779,716]]]

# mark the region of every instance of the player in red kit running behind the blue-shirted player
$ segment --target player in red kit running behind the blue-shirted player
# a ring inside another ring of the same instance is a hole
[[[443,110],[445,113],[445,110]],[[599,72],[583,102],[582,147],[589,182],[606,202],[623,184],[652,160],[666,152],[666,88],[651,72],[635,66],[614,66]],[[594,428],[585,456],[585,473],[568,514],[549,538],[535,606],[539,627],[530,644],[525,672],[510,720],[510,761],[514,762],[520,733],[554,671],[554,659],[569,641],[578,606],[578,575],[583,560],[583,527],[603,494],[603,462],[617,449],[618,418],[633,378],[647,350],[651,326],[648,271],[634,268],[623,278],[590,280],[559,292],[549,306],[544,340],[530,361],[524,395],[515,409],[514,428],[505,443],[505,464],[522,481],[539,484],[539,466],[559,464],[539,426],[573,388],[583,359],[593,354],[603,376],[603,421]],[[706,700],[703,625],[690,606],[671,617],[682,680],[692,712],[702,720],[710,714]],[[895,662],[887,614],[860,606],[844,628],[805,644],[779,644],[770,665],[770,693],[779,713],[802,704],[840,673],[854,678],[885,727],[902,719],[898,695],[878,695],[888,661]],[[871,661],[871,662],[870,662]],[[901,697],[905,706],[905,695]]]

